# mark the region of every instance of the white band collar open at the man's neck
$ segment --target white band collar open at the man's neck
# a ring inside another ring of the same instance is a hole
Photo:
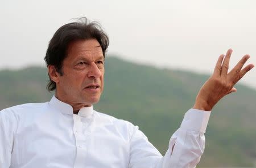
[[[60,101],[57,99],[54,95],[52,96],[51,101],[49,102],[49,105],[53,107],[54,109],[57,109],[63,114],[73,114],[73,107],[69,104],[66,104],[65,102]],[[93,114],[93,106],[90,107],[82,107],[79,110],[80,117],[90,117]]]

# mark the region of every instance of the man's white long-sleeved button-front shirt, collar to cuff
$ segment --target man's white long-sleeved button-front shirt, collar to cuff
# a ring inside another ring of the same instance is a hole
[[[92,106],[73,114],[71,105],[53,96],[0,112],[0,168],[196,167],[209,116],[188,110],[162,156],[138,126]]]

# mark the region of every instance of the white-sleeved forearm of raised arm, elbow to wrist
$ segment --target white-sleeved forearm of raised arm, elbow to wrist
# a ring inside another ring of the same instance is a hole
[[[160,167],[196,167],[204,152],[204,132],[209,117],[209,111],[196,109],[187,111],[180,128],[170,139],[169,149]]]

